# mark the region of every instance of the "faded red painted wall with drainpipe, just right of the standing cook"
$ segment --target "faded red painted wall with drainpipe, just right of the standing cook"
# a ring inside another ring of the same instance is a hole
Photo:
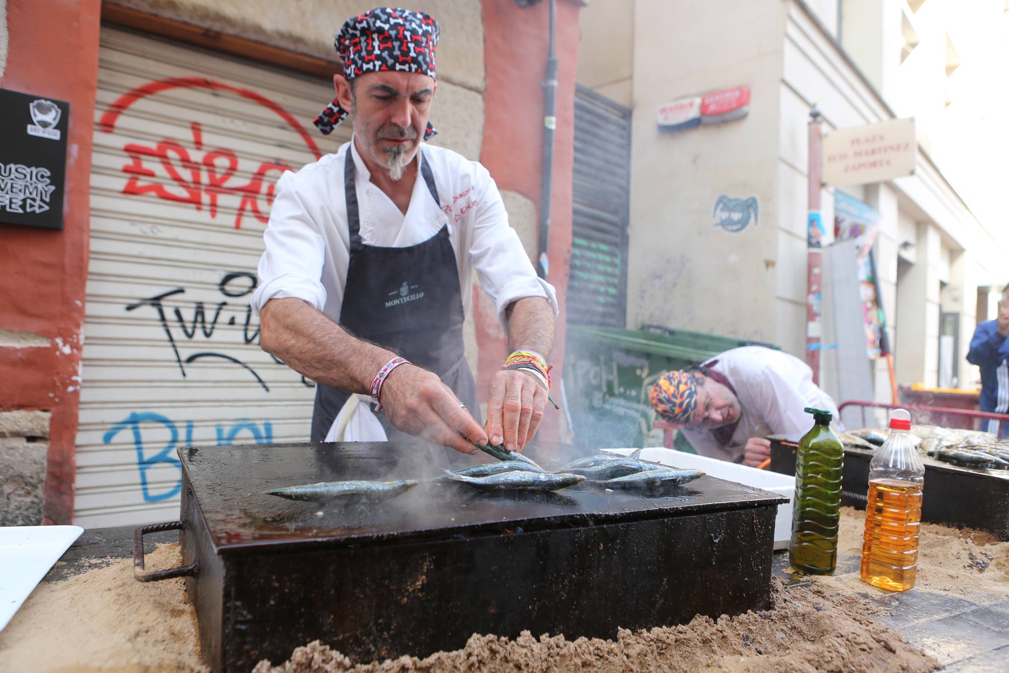
[[[574,170],[574,85],[578,61],[578,11],[581,5],[557,0],[557,129],[554,133],[554,169],[550,207],[550,240],[547,279],[557,289],[561,314],[550,361],[554,365],[554,399],[564,361],[565,297],[571,261],[571,183]],[[497,187],[530,199],[540,209],[543,156],[543,82],[549,46],[550,7],[544,0],[520,7],[515,0],[483,0],[483,58],[486,71],[483,146],[480,162]],[[539,234],[537,234],[539,235]],[[490,376],[500,368],[506,352],[504,335],[493,306],[474,296],[476,338],[480,345],[477,391],[486,402]],[[555,439],[560,414],[547,409],[541,431]]]

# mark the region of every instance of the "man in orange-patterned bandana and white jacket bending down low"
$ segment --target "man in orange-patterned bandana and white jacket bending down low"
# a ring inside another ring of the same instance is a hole
[[[833,415],[837,406],[813,383],[797,357],[762,346],[725,351],[700,366],[668,371],[649,401],[659,418],[680,428],[700,454],[757,466],[771,457],[767,435],[798,439],[812,427],[803,410]]]

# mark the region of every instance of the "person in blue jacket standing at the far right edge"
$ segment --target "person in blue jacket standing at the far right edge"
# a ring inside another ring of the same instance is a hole
[[[971,339],[967,361],[981,367],[981,411],[1009,413],[1009,286],[1002,290],[999,315],[978,325]],[[998,432],[998,421],[984,424]],[[1009,422],[1002,423],[1002,436],[1009,437]]]

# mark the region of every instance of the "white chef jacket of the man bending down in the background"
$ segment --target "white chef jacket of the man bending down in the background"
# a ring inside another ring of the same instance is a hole
[[[735,460],[751,437],[786,435],[798,440],[813,427],[813,417],[806,407],[822,409],[833,415],[831,428],[843,428],[837,406],[826,392],[813,383],[813,371],[799,358],[762,346],[744,346],[721,353],[709,368],[728,379],[740,400],[743,414],[733,439],[721,446],[710,430],[681,432],[697,453],[722,460]],[[704,363],[704,366],[708,366]]]

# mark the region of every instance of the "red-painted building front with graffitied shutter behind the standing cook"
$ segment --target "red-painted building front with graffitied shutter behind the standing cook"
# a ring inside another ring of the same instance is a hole
[[[581,5],[557,4],[548,278],[563,306]],[[490,171],[531,257],[547,5],[411,5],[442,31],[433,142]],[[179,447],[308,439],[314,385],[259,349],[248,298],[277,178],[349,139],[312,119],[340,70],[333,35],[372,6],[0,3],[0,88],[71,115],[63,229],[0,224],[2,523],[173,520]],[[562,361],[563,318],[557,343]],[[466,344],[485,390],[504,335],[479,288]]]

